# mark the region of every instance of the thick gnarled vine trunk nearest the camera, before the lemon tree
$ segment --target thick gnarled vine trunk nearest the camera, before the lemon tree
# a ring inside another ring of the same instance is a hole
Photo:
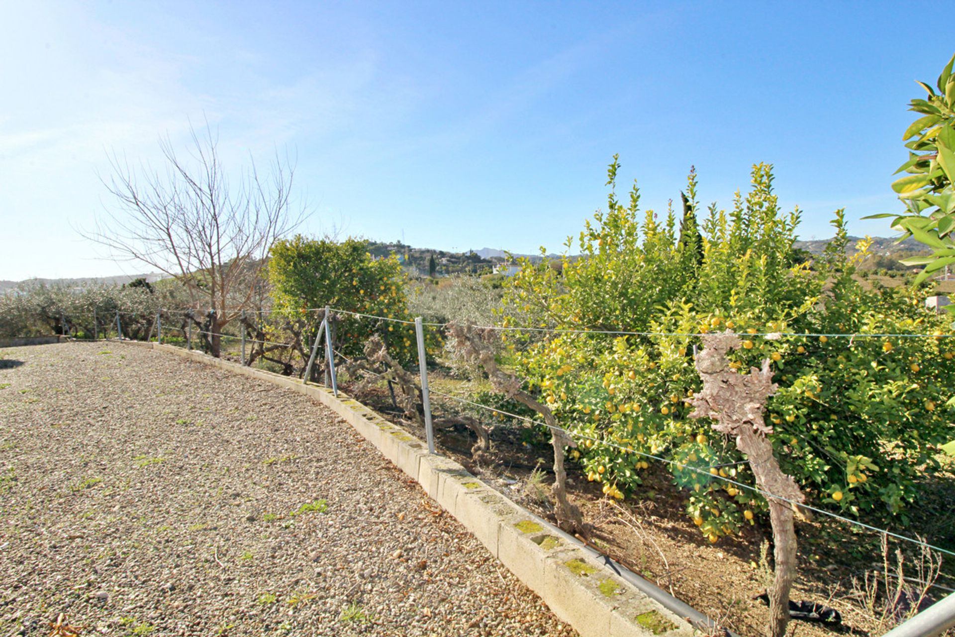
[[[784,637],[789,622],[789,591],[796,578],[796,526],[794,511],[807,517],[795,503],[805,501],[796,480],[779,468],[773,456],[773,443],[767,435],[773,427],[763,420],[766,401],[776,386],[770,360],[763,360],[762,369],[743,374],[732,370],[726,354],[742,347],[739,337],[727,330],[722,334],[703,336],[703,350],[696,357],[696,371],[703,380],[703,391],[687,402],[696,410],[691,418],[712,418],[712,428],[736,440],[736,448],[745,454],[756,486],[768,497],[773,524],[775,580],[767,591],[770,598],[771,637]],[[808,512],[807,512],[808,513]]]

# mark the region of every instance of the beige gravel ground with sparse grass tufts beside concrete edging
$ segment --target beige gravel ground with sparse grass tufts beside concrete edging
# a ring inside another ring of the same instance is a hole
[[[120,343],[0,350],[0,635],[572,635],[308,397]],[[22,364],[20,364],[22,363]]]

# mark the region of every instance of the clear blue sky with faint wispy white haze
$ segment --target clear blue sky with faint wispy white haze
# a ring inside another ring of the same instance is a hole
[[[560,251],[605,203],[729,207],[775,164],[804,238],[888,236],[906,111],[953,53],[910,3],[0,0],[0,279],[148,270],[75,231],[107,152],[156,162],[208,119],[238,167],[297,157],[304,230]]]

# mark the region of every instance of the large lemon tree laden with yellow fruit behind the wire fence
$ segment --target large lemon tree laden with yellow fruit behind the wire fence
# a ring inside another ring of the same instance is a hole
[[[615,159],[611,186],[617,168]],[[689,418],[684,399],[701,389],[693,365],[701,341],[688,334],[749,333],[732,359],[740,372],[771,360],[779,390],[767,420],[776,456],[816,505],[904,520],[920,473],[955,437],[955,339],[761,335],[951,333],[923,308],[918,289],[859,286],[857,262],[845,257],[841,211],[826,254],[812,266],[796,264],[799,213],[778,209],[772,184],[770,166],[757,165],[752,190],[737,195],[730,212],[714,204],[700,215],[702,260],[694,242],[680,242],[672,211],[662,220],[641,215],[636,187],[627,205],[611,191],[607,210],[580,235],[584,257],[564,259],[562,275],[547,263],[524,263],[503,300],[503,326],[669,334],[503,338],[509,361],[562,426],[595,440],[571,453],[589,478],[623,498],[639,492],[653,461],[634,452],[671,461],[675,483],[689,493],[688,513],[711,541],[752,523],[766,504],[719,479],[753,485],[732,440]],[[695,192],[691,175],[689,205],[698,215]]]

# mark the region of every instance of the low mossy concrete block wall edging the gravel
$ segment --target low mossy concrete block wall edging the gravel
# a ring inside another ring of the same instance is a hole
[[[330,389],[303,384],[288,376],[244,367],[199,351],[151,345],[155,350],[303,393],[329,407],[384,457],[417,480],[431,498],[582,637],[694,634],[687,619],[607,568],[582,542],[505,498],[454,460],[429,455],[421,440],[349,395],[339,391],[336,398]]]

